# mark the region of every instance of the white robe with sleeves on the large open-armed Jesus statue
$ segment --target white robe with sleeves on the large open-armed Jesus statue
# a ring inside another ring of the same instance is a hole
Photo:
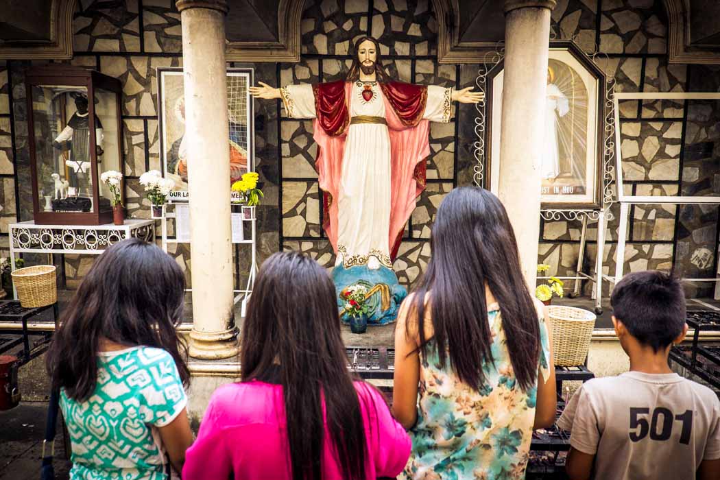
[[[365,101],[363,83],[355,82],[350,101],[350,117],[385,117],[382,89],[372,85],[373,96]],[[292,118],[315,118],[315,95],[311,85],[285,87],[293,102]],[[450,89],[428,86],[423,118],[449,122],[445,100]],[[338,258],[336,265],[350,259],[367,262],[369,268],[390,262],[390,136],[387,125],[359,123],[348,127],[338,199]]]

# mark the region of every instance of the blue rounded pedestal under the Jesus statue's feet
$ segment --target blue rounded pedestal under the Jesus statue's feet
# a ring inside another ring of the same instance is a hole
[[[380,266],[377,270],[370,270],[367,266],[352,266],[345,268],[342,265],[333,268],[333,281],[335,282],[338,309],[342,312],[345,302],[340,298],[340,292],[347,286],[361,284],[368,289],[369,306],[371,307],[368,325],[386,325],[395,322],[400,303],[408,290],[397,283],[397,275],[392,269]],[[349,323],[348,315],[341,314],[341,320]]]

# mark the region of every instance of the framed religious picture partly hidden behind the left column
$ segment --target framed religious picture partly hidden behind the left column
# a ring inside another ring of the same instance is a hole
[[[158,68],[160,155],[165,176],[175,181],[175,188],[169,195],[171,201],[186,201],[189,198],[183,78],[182,68]],[[255,170],[253,98],[248,91],[254,81],[252,68],[228,68],[231,184],[243,173]]]

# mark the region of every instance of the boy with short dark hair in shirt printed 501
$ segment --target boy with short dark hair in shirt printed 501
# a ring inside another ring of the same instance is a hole
[[[630,371],[593,379],[557,425],[570,430],[571,480],[720,479],[720,400],[667,366],[685,338],[680,281],[629,273],[613,289],[613,325]]]

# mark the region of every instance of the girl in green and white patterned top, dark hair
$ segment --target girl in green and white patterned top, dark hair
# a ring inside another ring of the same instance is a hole
[[[95,261],[60,321],[48,373],[72,443],[71,480],[164,480],[192,443],[175,327],[185,276],[156,245],[123,240]],[[184,345],[182,346],[184,350]]]

